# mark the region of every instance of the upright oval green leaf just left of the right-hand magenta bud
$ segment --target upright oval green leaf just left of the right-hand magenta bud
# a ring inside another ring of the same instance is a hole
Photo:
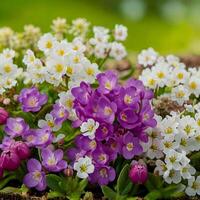
[[[129,165],[126,164],[123,169],[121,170],[118,180],[117,180],[117,193],[122,194],[125,186],[130,182],[128,173],[129,173]]]

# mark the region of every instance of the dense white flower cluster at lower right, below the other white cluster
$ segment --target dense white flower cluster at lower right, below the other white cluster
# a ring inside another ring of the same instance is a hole
[[[184,180],[188,180],[186,193],[190,196],[199,192],[195,184],[190,185],[196,173],[190,164],[190,155],[200,149],[200,110],[196,108],[192,113],[194,117],[186,111],[172,112],[163,119],[157,116],[157,127],[148,130],[150,139],[143,145],[146,156],[156,159],[155,173],[163,176],[168,184],[181,181],[185,184]]]

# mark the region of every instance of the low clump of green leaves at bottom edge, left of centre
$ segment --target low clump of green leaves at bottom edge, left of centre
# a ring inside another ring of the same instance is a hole
[[[47,185],[51,189],[49,198],[67,197],[70,200],[79,200],[87,186],[87,180],[79,180],[73,177],[61,177],[55,174],[48,174]]]

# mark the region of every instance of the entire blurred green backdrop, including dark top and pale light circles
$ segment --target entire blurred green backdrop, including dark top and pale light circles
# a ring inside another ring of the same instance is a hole
[[[95,25],[129,29],[126,46],[139,52],[200,54],[200,0],[0,0],[0,26],[48,31],[52,19],[84,17]]]

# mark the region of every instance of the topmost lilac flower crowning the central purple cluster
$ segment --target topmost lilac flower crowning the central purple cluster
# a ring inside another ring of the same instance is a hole
[[[117,86],[117,75],[113,71],[106,71],[97,75],[99,82],[98,91],[101,94],[108,94]]]

